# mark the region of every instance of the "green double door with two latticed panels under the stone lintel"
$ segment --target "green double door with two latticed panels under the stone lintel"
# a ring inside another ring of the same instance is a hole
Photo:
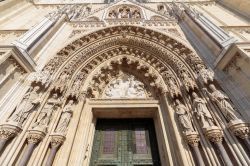
[[[98,119],[91,166],[160,166],[152,119]]]

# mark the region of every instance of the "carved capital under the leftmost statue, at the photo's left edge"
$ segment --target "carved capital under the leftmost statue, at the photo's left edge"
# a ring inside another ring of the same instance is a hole
[[[15,137],[22,129],[12,124],[0,125],[0,139],[8,140]]]

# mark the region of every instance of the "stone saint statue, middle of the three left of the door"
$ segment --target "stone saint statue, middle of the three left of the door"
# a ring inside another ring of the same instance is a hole
[[[59,100],[57,93],[54,93],[52,98],[48,99],[47,103],[39,113],[33,128],[46,128],[50,123],[53,112],[56,111],[60,104],[61,101]]]

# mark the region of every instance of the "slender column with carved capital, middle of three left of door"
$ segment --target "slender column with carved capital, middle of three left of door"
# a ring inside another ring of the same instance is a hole
[[[45,137],[45,133],[38,130],[30,130],[27,136],[28,146],[18,164],[18,166],[26,166],[29,162],[35,147]]]

